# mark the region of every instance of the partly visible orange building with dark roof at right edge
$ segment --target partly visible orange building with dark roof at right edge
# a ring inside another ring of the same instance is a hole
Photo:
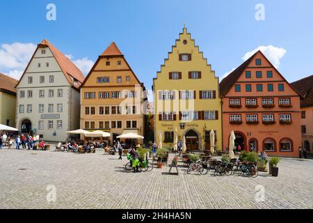
[[[291,85],[303,95],[303,100],[301,100],[302,148],[313,154],[313,75]]]

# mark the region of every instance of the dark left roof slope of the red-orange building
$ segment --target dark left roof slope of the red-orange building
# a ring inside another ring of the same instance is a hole
[[[220,95],[226,95],[228,91],[234,86],[239,77],[243,74],[243,72],[248,67],[249,63],[252,61],[253,57],[257,54],[253,54],[248,60],[244,61],[241,66],[236,68],[233,72],[231,72],[227,77],[225,77],[222,82],[220,82]]]

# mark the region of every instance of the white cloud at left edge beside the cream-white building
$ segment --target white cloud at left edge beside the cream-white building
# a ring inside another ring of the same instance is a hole
[[[15,79],[21,77],[36,45],[33,43],[12,43],[0,46],[0,71]]]

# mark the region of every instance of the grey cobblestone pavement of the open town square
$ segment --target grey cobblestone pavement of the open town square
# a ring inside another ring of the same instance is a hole
[[[313,161],[282,160],[278,178],[132,173],[117,156],[0,150],[0,208],[313,208]],[[56,187],[48,202],[47,186]],[[265,200],[255,201],[257,185]]]

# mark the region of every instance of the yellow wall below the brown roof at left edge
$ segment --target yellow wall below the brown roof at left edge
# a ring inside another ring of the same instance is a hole
[[[0,118],[1,124],[15,128],[16,95],[0,91]]]

